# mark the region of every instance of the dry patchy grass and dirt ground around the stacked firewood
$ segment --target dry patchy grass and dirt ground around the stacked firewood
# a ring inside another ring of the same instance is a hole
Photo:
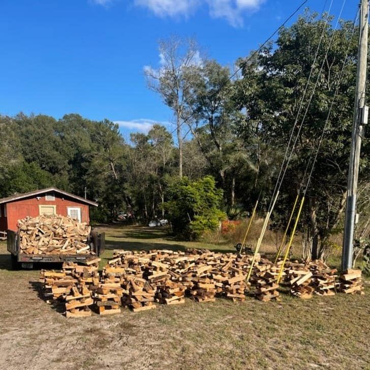
[[[114,248],[188,246],[147,229],[106,231],[105,258]],[[365,296],[186,299],[183,306],[67,319],[63,307],[40,297],[38,268],[12,271],[0,243],[1,369],[370,369],[367,285]]]

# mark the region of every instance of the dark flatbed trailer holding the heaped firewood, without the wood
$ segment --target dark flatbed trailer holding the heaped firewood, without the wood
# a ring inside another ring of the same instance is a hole
[[[19,231],[7,230],[7,249],[11,253],[12,268],[33,268],[34,263],[85,262],[93,256],[99,257],[105,250],[105,233],[91,230],[87,238],[90,251],[94,254],[25,254],[20,249]]]

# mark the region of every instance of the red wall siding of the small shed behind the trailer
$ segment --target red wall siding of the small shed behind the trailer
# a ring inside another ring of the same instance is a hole
[[[7,228],[10,230],[17,230],[17,221],[25,218],[26,216],[38,216],[39,205],[56,205],[56,213],[66,216],[67,207],[80,207],[81,208],[81,221],[89,223],[89,212],[88,205],[79,203],[75,199],[68,198],[66,196],[55,193],[54,201],[46,201],[45,194],[39,194],[37,197],[41,197],[37,200],[36,196],[30,198],[19,199],[13,202],[7,203]],[[3,211],[3,209],[2,209]],[[2,212],[4,215],[4,212]],[[3,219],[0,219],[0,230],[3,230]],[[6,228],[4,229],[6,230]]]

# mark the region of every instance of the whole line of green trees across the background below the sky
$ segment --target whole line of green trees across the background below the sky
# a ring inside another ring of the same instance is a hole
[[[100,204],[92,219],[109,221],[130,209],[138,222],[147,223],[169,217],[170,205],[172,210],[179,205],[174,200],[181,192],[188,194],[184,189],[208,186],[210,177],[201,181],[211,176],[221,191],[209,191],[218,199],[213,214],[240,217],[259,198],[263,215],[296,121],[293,139],[298,129],[299,134],[271,218],[271,227],[283,228],[306,184],[327,121],[299,223],[305,257],[324,257],[333,248],[330,235],[343,226],[358,40],[353,22],[342,21],[334,29],[331,21],[329,15],[318,19],[307,11],[282,28],[275,43],[239,58],[233,69],[200,57],[194,40],[161,41],[161,66],[147,68],[145,76],[148,87],[173,111],[173,136],[153,125],[148,134],[131,134],[125,142],[109,120],[78,114],[58,120],[0,116],[0,195],[56,186],[82,196],[86,187],[88,198]],[[369,195],[368,165],[364,138],[362,199]],[[367,204],[359,206],[362,239],[368,238],[361,226],[368,226]],[[195,216],[189,215],[189,222]]]

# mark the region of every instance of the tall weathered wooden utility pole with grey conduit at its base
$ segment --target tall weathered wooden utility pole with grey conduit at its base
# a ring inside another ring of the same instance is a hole
[[[352,126],[350,165],[348,170],[347,203],[343,236],[342,269],[352,268],[353,238],[356,223],[358,165],[360,160],[363,125],[367,124],[365,106],[367,65],[368,0],[360,2],[360,40],[357,57],[357,82]]]

